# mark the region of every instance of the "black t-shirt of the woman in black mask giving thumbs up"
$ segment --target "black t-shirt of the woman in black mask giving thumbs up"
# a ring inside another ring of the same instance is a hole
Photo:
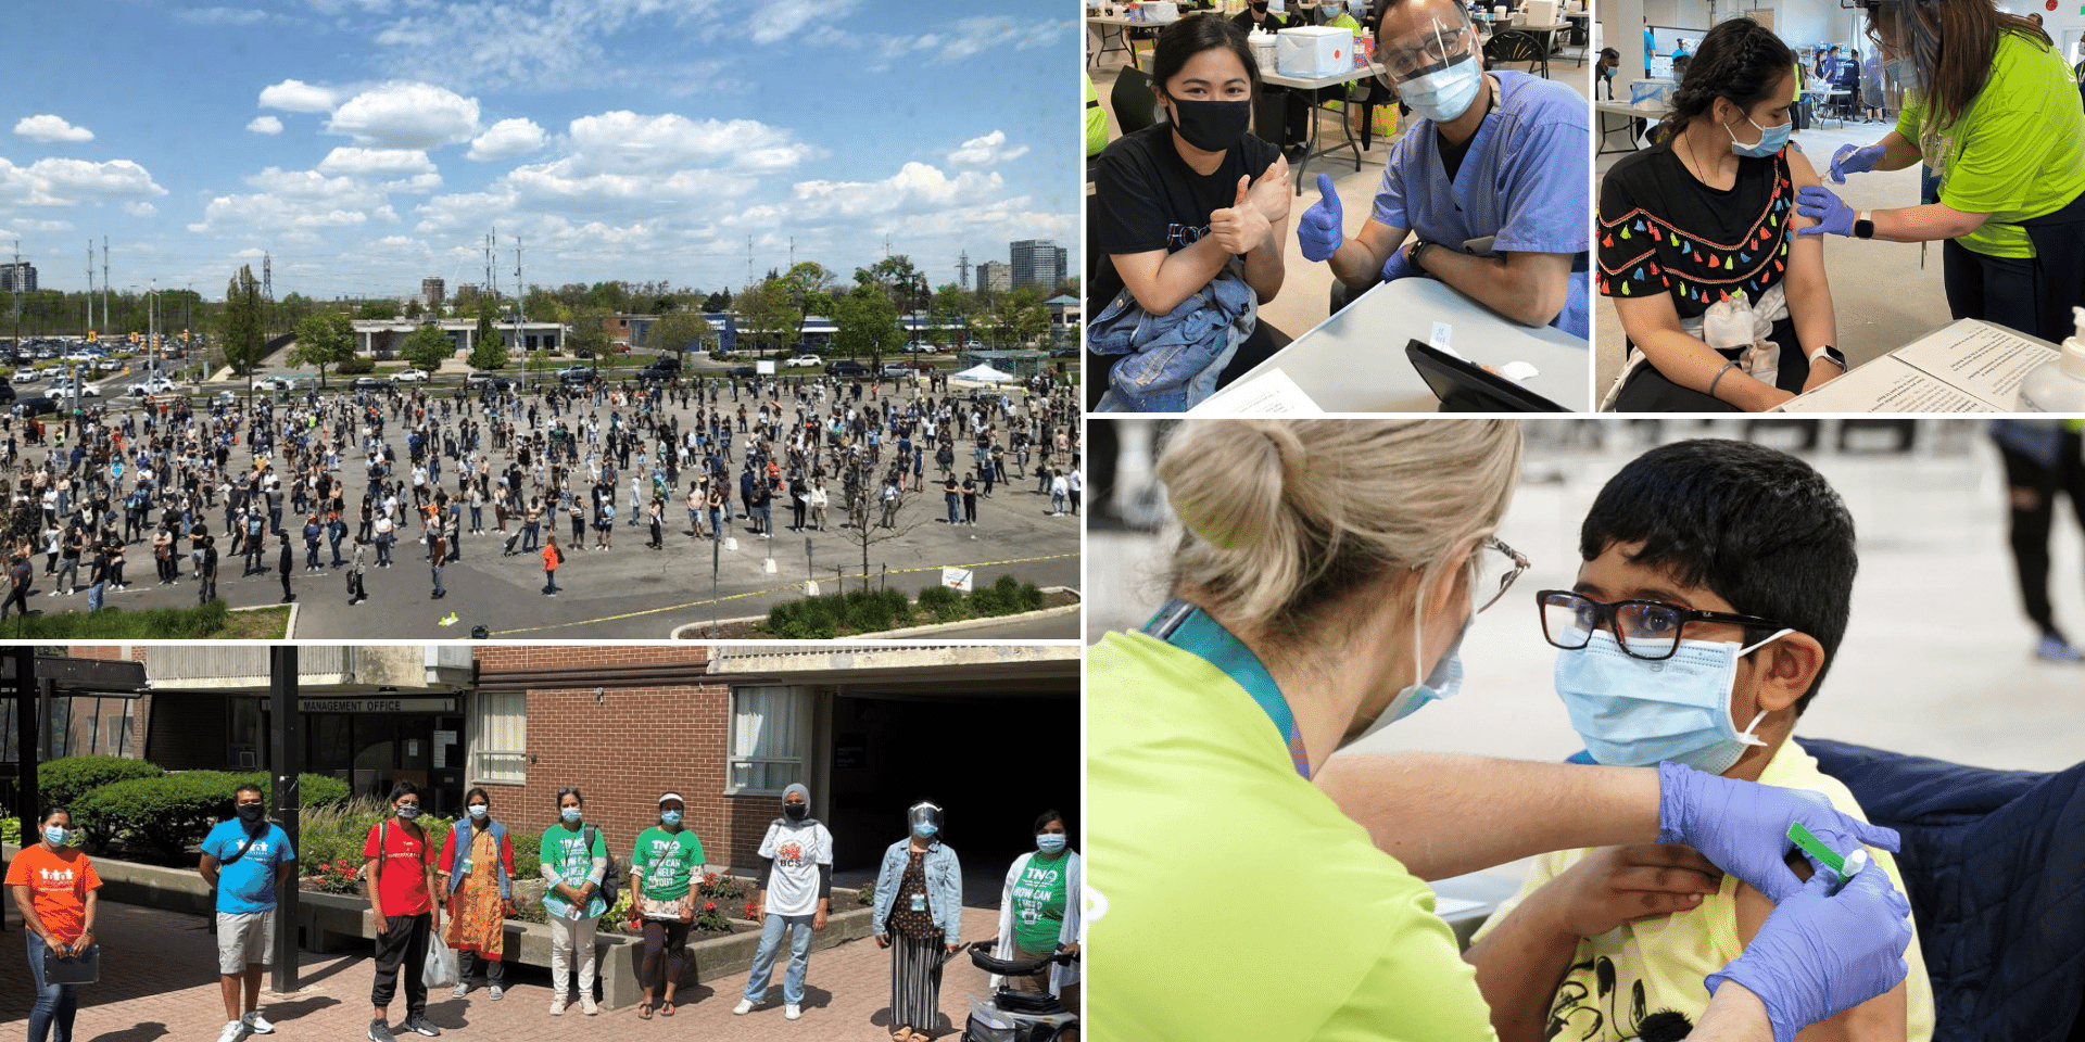
[[[1259,179],[1280,150],[1251,133],[1238,138],[1216,173],[1195,173],[1174,148],[1172,123],[1115,138],[1095,160],[1093,244],[1101,252],[1093,290],[1099,315],[1122,292],[1107,258],[1151,250],[1184,250],[1209,231],[1209,215],[1238,200],[1238,177]]]

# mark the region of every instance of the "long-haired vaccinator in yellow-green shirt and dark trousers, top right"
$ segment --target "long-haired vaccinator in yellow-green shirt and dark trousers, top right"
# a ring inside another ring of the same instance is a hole
[[[1897,129],[1841,146],[1831,179],[1924,163],[1939,200],[1864,210],[1797,192],[1804,235],[1935,242],[1947,308],[2062,340],[2085,304],[2085,108],[2062,52],[1991,0],[1868,0],[1868,38],[1904,92]]]

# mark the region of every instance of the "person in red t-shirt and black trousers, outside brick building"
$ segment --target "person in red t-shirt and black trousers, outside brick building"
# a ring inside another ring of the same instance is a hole
[[[288,542],[284,544],[288,546]],[[377,975],[369,988],[369,1042],[396,1042],[390,1029],[390,1002],[404,975],[404,1027],[434,1038],[442,1034],[427,1021],[427,984],[421,967],[427,963],[427,938],[442,925],[442,909],[434,904],[434,850],[427,829],[419,827],[419,786],[398,782],[390,792],[392,817],[369,825],[363,840],[363,888],[369,892],[369,921],[377,929]]]

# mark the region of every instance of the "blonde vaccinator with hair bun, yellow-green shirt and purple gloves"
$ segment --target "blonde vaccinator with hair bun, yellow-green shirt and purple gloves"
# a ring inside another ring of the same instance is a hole
[[[1651,840],[1776,902],[1693,1042],[1789,1042],[1904,979],[1912,927],[1885,873],[1831,892],[1783,863],[1789,821],[1837,850],[1895,834],[1789,790],[1674,763],[1328,769],[1460,688],[1468,623],[1526,567],[1493,536],[1518,471],[1512,421],[1174,429],[1157,465],[1184,527],[1174,600],[1086,665],[1093,1038],[1495,1038],[1424,879]]]

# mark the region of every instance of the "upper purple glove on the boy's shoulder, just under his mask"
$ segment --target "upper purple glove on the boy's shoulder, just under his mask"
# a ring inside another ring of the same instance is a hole
[[[1789,821],[1801,821],[1839,852],[1860,844],[1891,852],[1902,846],[1895,829],[1841,815],[1816,792],[1739,782],[1670,761],[1658,765],[1658,842],[1701,850],[1776,904],[1804,888],[1783,861],[1789,850],[1799,850],[1789,842]],[[1810,859],[1808,852],[1804,857]],[[1816,859],[1810,865],[1824,867]]]

